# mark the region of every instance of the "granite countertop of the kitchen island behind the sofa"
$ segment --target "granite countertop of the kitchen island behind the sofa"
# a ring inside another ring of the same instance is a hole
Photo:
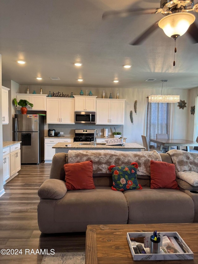
[[[96,143],[97,144],[97,143]],[[67,146],[66,146],[67,145]],[[57,143],[53,147],[53,149],[145,149],[143,146],[137,144],[137,143],[125,143],[123,145],[105,145],[105,144],[97,144],[97,145],[92,145],[86,142],[83,143]]]

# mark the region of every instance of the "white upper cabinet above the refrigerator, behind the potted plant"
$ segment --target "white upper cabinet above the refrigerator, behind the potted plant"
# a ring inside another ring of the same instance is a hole
[[[28,110],[40,110],[46,111],[46,96],[47,94],[30,94],[30,93],[17,93],[16,100],[27,100],[33,104],[33,107],[27,106]],[[20,110],[20,106],[17,106],[17,110]]]

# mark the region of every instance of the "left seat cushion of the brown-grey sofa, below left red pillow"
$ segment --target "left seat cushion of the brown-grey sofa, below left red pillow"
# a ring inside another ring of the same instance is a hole
[[[85,232],[88,224],[127,223],[127,201],[123,192],[114,192],[111,187],[68,190],[57,201],[54,207],[54,225],[57,228],[58,223],[64,223],[65,230],[70,228],[70,232]]]

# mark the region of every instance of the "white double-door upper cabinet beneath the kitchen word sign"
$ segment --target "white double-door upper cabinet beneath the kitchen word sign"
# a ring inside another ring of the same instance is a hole
[[[47,124],[74,124],[74,98],[49,97],[46,101]]]

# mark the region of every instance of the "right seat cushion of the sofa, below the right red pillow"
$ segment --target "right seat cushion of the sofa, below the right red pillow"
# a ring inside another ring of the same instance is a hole
[[[193,200],[180,190],[144,187],[123,194],[129,207],[128,224],[193,222]]]

